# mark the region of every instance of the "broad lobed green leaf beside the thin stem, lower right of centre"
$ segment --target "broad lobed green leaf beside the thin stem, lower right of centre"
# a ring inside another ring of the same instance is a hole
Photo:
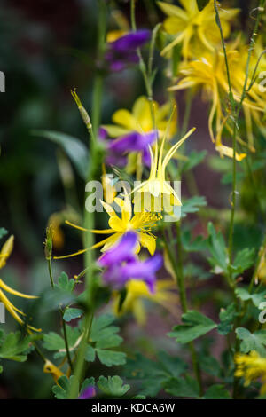
[[[173,331],[168,333],[168,336],[174,337],[179,343],[192,342],[217,327],[213,320],[199,311],[187,311],[182,315],[182,320],[184,325],[175,326]]]

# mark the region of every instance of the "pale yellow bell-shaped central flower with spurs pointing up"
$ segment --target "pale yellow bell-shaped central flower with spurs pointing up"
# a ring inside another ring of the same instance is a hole
[[[160,145],[160,153],[158,151],[158,142],[155,144],[154,155],[152,148],[150,147],[152,159],[150,177],[140,185],[137,185],[132,192],[134,193],[135,208],[137,208],[135,211],[139,211],[141,208],[147,211],[165,210],[170,212],[174,206],[182,206],[176,191],[166,181],[166,167],[177,149],[195,130],[196,128],[189,130],[184,138],[180,139],[168,150],[168,153],[166,153],[164,157],[163,151],[167,136],[166,134]]]

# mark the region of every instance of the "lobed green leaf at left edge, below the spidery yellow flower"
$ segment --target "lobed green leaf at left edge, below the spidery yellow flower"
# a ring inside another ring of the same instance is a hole
[[[35,335],[22,338],[20,332],[5,335],[0,346],[0,358],[25,362],[34,339]]]

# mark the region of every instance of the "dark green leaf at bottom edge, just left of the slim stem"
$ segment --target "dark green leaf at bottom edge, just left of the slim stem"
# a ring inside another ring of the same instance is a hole
[[[168,394],[175,397],[199,398],[200,388],[197,381],[193,380],[190,375],[184,378],[172,378],[164,384],[164,389]]]

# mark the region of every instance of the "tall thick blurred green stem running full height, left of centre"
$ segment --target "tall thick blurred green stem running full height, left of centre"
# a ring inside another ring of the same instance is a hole
[[[98,0],[98,60],[103,59],[103,54],[106,48],[106,0]],[[101,103],[103,95],[103,76],[99,73],[96,76],[93,90],[92,103],[92,126],[89,130],[90,134],[90,168],[87,176],[87,183],[95,179],[98,167],[101,166],[101,147],[98,145],[98,127],[101,119]],[[94,214],[86,209],[84,210],[84,227],[88,230],[94,229]],[[93,234],[90,232],[84,235],[84,248],[91,248],[94,243]],[[84,256],[86,279],[85,291],[87,293],[87,309],[85,311],[84,319],[84,333],[82,342],[80,344],[76,364],[74,368],[74,384],[72,385],[69,398],[76,398],[81,385],[83,371],[85,350],[88,339],[90,337],[90,328],[93,320],[94,311],[94,297],[96,291],[96,280],[93,277],[94,269],[94,255],[93,251],[87,250]]]

